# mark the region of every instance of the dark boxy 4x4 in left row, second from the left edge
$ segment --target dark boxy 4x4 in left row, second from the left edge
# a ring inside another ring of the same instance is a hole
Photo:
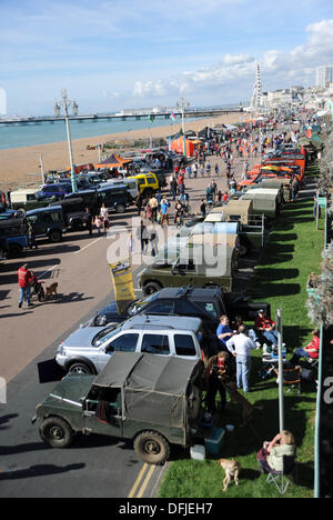
[[[47,237],[51,242],[61,242],[67,232],[65,218],[61,206],[40,208],[26,213],[36,237]]]

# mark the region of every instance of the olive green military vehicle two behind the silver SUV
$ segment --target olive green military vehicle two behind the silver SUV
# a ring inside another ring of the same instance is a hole
[[[153,294],[164,287],[219,286],[232,292],[238,270],[239,251],[236,237],[228,243],[219,236],[208,236],[205,241],[190,238],[178,249],[168,244],[153,262],[138,274],[144,296]],[[231,243],[232,241],[232,243]]]

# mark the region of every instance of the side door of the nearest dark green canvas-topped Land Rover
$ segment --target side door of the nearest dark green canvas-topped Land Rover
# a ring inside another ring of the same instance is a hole
[[[122,437],[122,390],[92,387],[83,403],[83,428],[92,433]]]

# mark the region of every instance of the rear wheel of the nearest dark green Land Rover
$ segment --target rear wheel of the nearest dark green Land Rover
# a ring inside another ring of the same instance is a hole
[[[149,464],[162,466],[169,459],[170,444],[155,431],[143,431],[134,440],[134,450]]]

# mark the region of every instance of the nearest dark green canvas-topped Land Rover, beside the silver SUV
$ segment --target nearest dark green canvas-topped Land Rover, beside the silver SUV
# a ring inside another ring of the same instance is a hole
[[[114,352],[98,377],[69,374],[37,407],[41,439],[68,448],[75,433],[133,440],[143,461],[163,464],[170,444],[190,446],[206,436],[202,361]]]

